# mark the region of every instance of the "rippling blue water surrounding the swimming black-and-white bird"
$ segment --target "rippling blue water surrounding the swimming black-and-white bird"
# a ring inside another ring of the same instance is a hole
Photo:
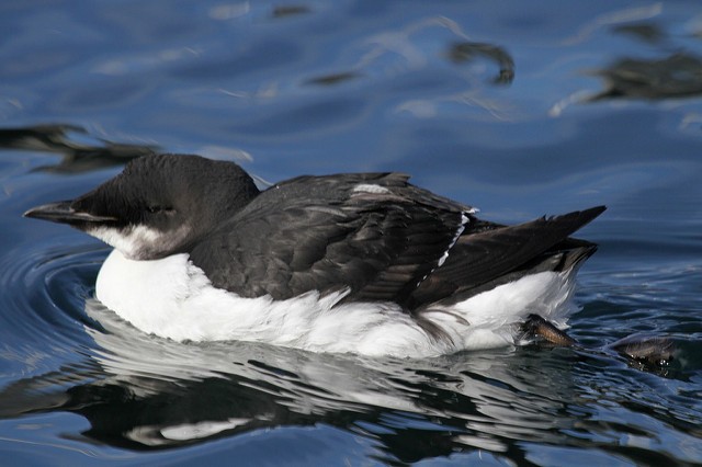
[[[697,1],[0,5],[7,465],[702,463]],[[107,249],[21,218],[150,151],[262,180],[401,170],[516,223],[607,204],[570,333],[364,360],[176,344],[92,299]],[[661,335],[667,366],[608,344]]]

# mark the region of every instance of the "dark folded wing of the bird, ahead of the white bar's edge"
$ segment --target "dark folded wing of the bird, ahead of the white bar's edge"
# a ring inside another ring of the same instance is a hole
[[[403,174],[305,176],[263,192],[191,260],[216,287],[246,297],[349,288],[347,300],[404,304],[469,212]]]

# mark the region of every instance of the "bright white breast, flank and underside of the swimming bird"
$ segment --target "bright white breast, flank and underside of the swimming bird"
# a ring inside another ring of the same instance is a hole
[[[568,273],[540,273],[422,315],[450,339],[432,338],[394,304],[337,305],[344,293],[242,298],[212,287],[186,254],[132,261],[114,250],[98,275],[97,296],[141,331],[176,341],[423,357],[513,344],[516,324],[532,312],[564,324],[573,282]]]

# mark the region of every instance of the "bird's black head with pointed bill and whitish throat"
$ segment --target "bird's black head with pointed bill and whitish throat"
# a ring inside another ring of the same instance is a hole
[[[26,217],[68,224],[134,260],[186,252],[259,193],[233,162],[199,156],[145,156],[72,201],[52,203]]]

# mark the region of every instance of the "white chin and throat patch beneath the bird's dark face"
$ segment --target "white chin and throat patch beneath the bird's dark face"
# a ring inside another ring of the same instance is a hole
[[[162,252],[169,243],[161,231],[145,226],[131,226],[122,229],[112,227],[94,227],[87,234],[99,238],[105,243],[120,250],[131,260],[146,260]]]

